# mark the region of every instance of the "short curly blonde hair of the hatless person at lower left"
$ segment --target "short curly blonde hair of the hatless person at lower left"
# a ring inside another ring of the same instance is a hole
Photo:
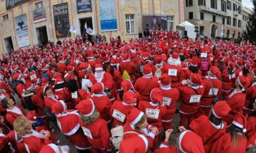
[[[18,134],[18,137],[21,137],[26,134],[31,134],[31,129],[26,117],[18,117],[13,123],[13,129]]]

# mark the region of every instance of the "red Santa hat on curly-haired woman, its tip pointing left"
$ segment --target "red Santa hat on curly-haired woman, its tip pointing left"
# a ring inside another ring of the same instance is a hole
[[[85,117],[90,117],[90,115],[93,114],[95,110],[93,100],[91,100],[90,98],[80,101],[75,108]]]

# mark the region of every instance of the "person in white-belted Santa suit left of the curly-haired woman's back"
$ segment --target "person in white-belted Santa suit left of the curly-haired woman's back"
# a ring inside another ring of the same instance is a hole
[[[77,151],[90,152],[91,144],[84,137],[84,132],[79,125],[79,114],[77,110],[66,109],[66,104],[63,101],[55,103],[52,107],[52,113],[57,117],[57,125],[60,131],[74,143]]]

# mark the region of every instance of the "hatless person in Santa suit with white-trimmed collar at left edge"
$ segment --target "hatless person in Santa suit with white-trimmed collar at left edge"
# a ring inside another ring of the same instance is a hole
[[[12,125],[16,118],[27,115],[23,107],[15,104],[15,102],[11,98],[5,97],[4,99],[2,99],[1,105],[6,109],[6,120]]]

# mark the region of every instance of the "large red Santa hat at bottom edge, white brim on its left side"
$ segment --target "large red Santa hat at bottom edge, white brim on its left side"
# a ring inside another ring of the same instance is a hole
[[[182,152],[204,152],[202,138],[192,131],[183,131],[179,136],[178,143]]]

